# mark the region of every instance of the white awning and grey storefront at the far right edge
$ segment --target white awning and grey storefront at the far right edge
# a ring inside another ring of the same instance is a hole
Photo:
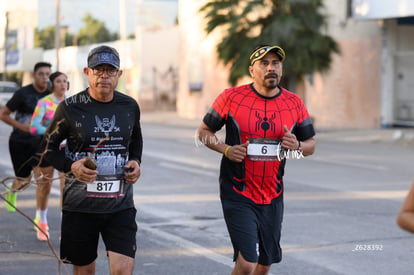
[[[353,0],[352,17],[381,29],[381,126],[414,126],[414,2]]]

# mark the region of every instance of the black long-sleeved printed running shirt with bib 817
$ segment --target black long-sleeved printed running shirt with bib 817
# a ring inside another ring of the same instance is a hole
[[[87,90],[67,98],[57,108],[48,128],[48,160],[69,172],[73,162],[91,157],[98,177],[92,184],[70,176],[66,180],[63,210],[111,213],[134,206],[132,185],[124,182],[128,160],[141,162],[140,111],[131,97],[115,91],[111,102],[99,102]],[[66,139],[65,158],[59,145]]]

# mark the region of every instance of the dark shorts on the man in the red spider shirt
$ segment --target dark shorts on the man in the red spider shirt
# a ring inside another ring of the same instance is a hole
[[[222,200],[221,203],[233,244],[233,261],[236,261],[239,252],[246,261],[261,265],[282,260],[282,196],[264,205],[228,200]]]

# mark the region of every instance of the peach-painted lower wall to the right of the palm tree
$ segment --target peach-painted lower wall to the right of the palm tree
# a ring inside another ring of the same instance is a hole
[[[380,125],[379,39],[338,41],[328,74],[307,78],[306,105],[317,128],[378,128]]]

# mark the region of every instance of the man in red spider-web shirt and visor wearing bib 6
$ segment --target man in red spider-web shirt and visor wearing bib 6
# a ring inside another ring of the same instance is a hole
[[[222,153],[220,197],[236,262],[232,274],[267,274],[280,262],[286,159],[311,155],[315,131],[299,96],[279,86],[285,52],[260,46],[250,56],[253,83],[223,91],[199,139]],[[225,142],[215,132],[226,126]]]

